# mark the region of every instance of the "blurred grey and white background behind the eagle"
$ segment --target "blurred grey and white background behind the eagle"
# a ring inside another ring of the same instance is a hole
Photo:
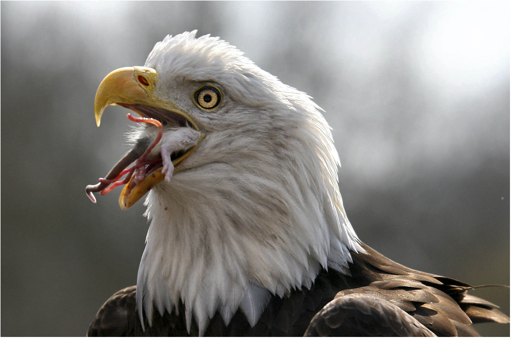
[[[509,284],[509,2],[2,2],[2,335],[84,335],[148,228],[95,184],[128,149],[96,89],[198,29],[309,93],[348,216],[406,266]],[[509,291],[474,291],[509,313]],[[479,325],[509,334],[509,325]]]

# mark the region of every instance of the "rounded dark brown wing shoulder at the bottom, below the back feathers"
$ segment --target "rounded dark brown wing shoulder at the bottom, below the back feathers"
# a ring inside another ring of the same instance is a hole
[[[354,293],[325,305],[312,319],[305,336],[422,336],[433,332],[391,302]]]

